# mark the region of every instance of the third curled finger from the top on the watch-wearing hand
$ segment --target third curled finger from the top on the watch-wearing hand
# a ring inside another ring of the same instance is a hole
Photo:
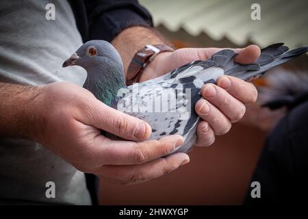
[[[211,125],[216,136],[224,135],[231,129],[229,119],[209,101],[199,100],[195,105],[195,110],[203,120]]]

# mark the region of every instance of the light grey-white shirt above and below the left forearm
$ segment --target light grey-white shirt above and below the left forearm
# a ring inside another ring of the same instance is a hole
[[[47,3],[55,20],[47,21]],[[82,44],[67,1],[0,1],[0,81],[44,85],[70,81],[82,86],[86,71],[62,68]],[[0,103],[1,104],[1,103]],[[45,186],[55,183],[55,198]],[[90,204],[83,172],[37,142],[0,139],[0,203]]]

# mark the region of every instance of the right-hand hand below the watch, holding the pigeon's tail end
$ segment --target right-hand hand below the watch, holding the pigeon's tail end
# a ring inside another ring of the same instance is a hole
[[[142,73],[140,81],[146,81],[164,75],[165,73],[194,60],[207,60],[211,55],[222,49],[177,49],[174,52],[160,53]],[[259,47],[255,45],[244,49],[233,49],[238,53],[235,61],[250,64],[260,55]],[[252,83],[235,77],[222,76],[217,85],[207,83],[201,94],[203,99],[195,105],[196,113],[203,119],[197,127],[197,146],[213,144],[215,136],[223,135],[231,128],[231,123],[240,120],[246,111],[245,104],[257,99],[257,90]]]

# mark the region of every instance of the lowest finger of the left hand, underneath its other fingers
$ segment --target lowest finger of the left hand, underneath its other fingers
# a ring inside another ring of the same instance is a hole
[[[188,157],[187,154],[175,153],[145,164],[102,166],[101,168],[98,168],[94,174],[109,179],[114,183],[141,183],[166,175],[188,162],[190,162],[190,157]]]

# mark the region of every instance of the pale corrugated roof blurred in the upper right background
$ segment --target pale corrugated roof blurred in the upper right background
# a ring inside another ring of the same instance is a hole
[[[307,0],[141,0],[153,14],[155,25],[170,31],[180,28],[192,36],[204,32],[214,40],[227,38],[243,45],[250,40],[261,47],[285,42],[290,48],[308,45]],[[251,5],[261,6],[261,21],[251,19]]]

